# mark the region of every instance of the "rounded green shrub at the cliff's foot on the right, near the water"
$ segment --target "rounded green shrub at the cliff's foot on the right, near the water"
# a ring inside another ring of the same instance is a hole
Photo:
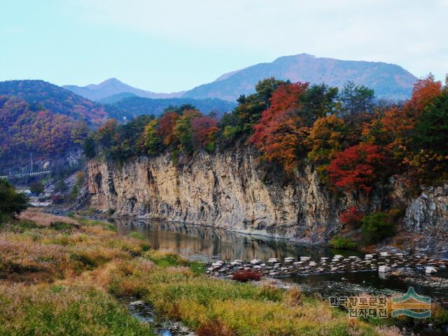
[[[384,212],[372,212],[362,223],[363,235],[368,241],[379,241],[395,232],[395,224]]]

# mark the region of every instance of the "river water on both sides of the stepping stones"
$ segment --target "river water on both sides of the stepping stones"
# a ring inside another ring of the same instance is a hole
[[[318,262],[321,258],[332,258],[338,254],[344,255],[344,257],[358,256],[360,258],[365,255],[365,253],[359,251],[297,245],[286,240],[242,235],[197,225],[118,219],[115,221],[115,225],[120,235],[128,235],[132,231],[141,233],[148,239],[151,248],[169,249],[179,253],[184,258],[204,262],[235,259],[267,261],[269,258],[284,260],[288,257],[298,258],[302,256],[310,257],[311,260]],[[448,269],[439,269],[437,277],[448,279]],[[379,274],[376,269],[356,270],[354,272],[348,270],[347,272],[294,274],[281,276],[277,279],[286,284],[297,283],[305,293],[318,293],[323,297],[359,295],[360,293],[387,295],[397,291],[404,293],[409,286],[413,286],[416,293],[430,296],[433,302],[437,301],[445,306],[448,305],[447,286],[437,286],[437,283],[431,281],[433,278],[425,274],[421,274],[423,281],[419,283],[411,282],[406,277],[384,276]],[[139,307],[139,309],[144,309],[144,307]],[[177,333],[175,330],[174,332],[169,329],[165,331],[163,328],[160,330],[159,335],[163,336],[185,335]],[[425,332],[421,335],[447,334]]]

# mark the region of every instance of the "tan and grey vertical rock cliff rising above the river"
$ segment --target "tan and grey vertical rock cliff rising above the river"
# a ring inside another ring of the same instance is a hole
[[[91,160],[87,165],[90,206],[118,216],[159,218],[297,241],[321,243],[340,229],[339,214],[356,205],[365,211],[410,204],[407,230],[447,232],[448,186],[405,200],[397,183],[363,195],[336,196],[321,186],[310,166],[286,179],[258,165],[250,148],[209,155],[186,165],[169,155],[138,158],[118,167]]]

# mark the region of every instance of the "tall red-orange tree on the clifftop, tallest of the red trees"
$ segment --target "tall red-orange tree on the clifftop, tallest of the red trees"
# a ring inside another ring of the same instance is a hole
[[[276,161],[284,169],[293,169],[298,163],[300,145],[307,137],[309,129],[300,118],[302,97],[308,83],[281,85],[272,94],[271,106],[263,111],[260,123],[249,139],[262,152],[262,158]]]

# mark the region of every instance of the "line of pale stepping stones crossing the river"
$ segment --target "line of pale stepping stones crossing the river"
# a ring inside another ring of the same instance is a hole
[[[335,255],[332,258],[322,257],[318,261],[308,256],[299,258],[288,257],[281,262],[277,258],[269,258],[267,262],[259,259],[246,260],[216,260],[208,265],[207,274],[211,276],[229,276],[237,271],[257,271],[269,276],[287,276],[295,274],[319,274],[337,272],[357,272],[377,270],[380,274],[391,272],[398,268],[414,268],[419,272],[434,274],[439,268],[447,267],[447,260],[407,256],[402,253],[387,252],[366,254],[364,258],[356,255],[344,257]]]

